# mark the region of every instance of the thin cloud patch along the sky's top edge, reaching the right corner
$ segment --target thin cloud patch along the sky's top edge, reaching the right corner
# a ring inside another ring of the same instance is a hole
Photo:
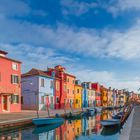
[[[96,2],[85,2],[75,0],[61,0],[64,15],[80,16],[90,9],[101,8],[112,13],[114,17],[126,11],[140,11],[139,0],[109,0],[108,2],[98,0]],[[96,9],[95,9],[96,12]]]

